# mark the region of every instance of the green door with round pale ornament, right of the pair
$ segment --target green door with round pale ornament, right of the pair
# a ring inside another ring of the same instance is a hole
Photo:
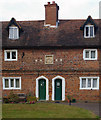
[[[62,100],[62,80],[55,80],[55,100]]]

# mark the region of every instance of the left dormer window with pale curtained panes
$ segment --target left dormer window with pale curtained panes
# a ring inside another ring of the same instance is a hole
[[[9,39],[19,39],[19,28],[12,26],[9,27]]]

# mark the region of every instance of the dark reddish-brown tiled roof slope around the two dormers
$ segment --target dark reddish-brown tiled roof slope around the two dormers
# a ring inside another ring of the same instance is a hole
[[[7,26],[2,22],[2,46],[11,47],[98,47],[99,19],[94,19],[98,26],[95,38],[84,38],[80,27],[86,20],[59,20],[57,28],[44,26],[44,21],[17,21],[23,29],[18,40],[10,40]]]

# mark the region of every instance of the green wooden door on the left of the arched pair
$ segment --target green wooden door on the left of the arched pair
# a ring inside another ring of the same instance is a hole
[[[39,100],[46,100],[46,80],[39,80]]]

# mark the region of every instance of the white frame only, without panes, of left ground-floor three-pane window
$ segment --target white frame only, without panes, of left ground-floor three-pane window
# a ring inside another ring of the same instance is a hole
[[[9,80],[9,88],[5,88],[5,79]],[[14,87],[10,86],[10,79],[14,79]],[[19,79],[19,85],[20,85],[19,88],[15,87],[15,79]],[[3,77],[2,80],[3,80],[3,90],[12,90],[12,89],[21,90],[21,77]]]

